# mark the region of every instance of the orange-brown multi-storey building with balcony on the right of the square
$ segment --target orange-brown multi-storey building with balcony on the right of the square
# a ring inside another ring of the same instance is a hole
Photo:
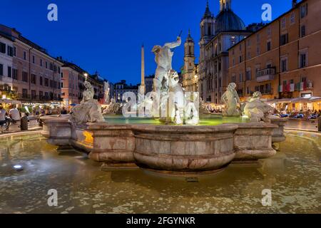
[[[267,99],[320,97],[320,21],[320,0],[292,1],[290,11],[230,48],[228,79],[240,97],[255,91]]]

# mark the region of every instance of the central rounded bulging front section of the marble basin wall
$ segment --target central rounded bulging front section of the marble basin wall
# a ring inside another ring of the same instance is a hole
[[[151,170],[204,172],[220,170],[235,157],[237,125],[207,127],[133,125],[136,164]]]

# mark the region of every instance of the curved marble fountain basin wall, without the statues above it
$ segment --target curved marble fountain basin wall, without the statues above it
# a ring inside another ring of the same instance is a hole
[[[198,126],[88,123],[86,128],[73,127],[68,116],[42,120],[49,143],[84,150],[108,169],[141,167],[174,174],[216,172],[230,162],[271,157],[276,154],[272,143],[284,136],[284,122],[277,120]]]

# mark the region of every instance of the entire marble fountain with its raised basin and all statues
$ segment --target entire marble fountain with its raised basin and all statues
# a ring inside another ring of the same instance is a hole
[[[149,105],[155,121],[163,124],[101,121],[90,83],[85,82],[87,90],[83,93],[88,94],[88,99],[84,94],[70,119],[43,118],[43,135],[51,144],[85,150],[92,160],[103,162],[107,169],[141,167],[175,175],[217,172],[233,161],[253,162],[275,155],[272,143],[285,140],[284,121],[268,117],[269,108],[260,100],[260,93],[242,104],[235,83],[231,83],[222,97],[224,115],[240,118],[244,111],[250,122],[200,124],[200,116],[209,112],[203,103],[199,104],[197,93],[185,93],[178,83],[177,72],[171,68],[170,50],[179,45],[180,37],[153,48],[158,63],[154,90],[138,105],[140,108]],[[111,100],[104,114],[115,115],[120,108],[120,104]],[[127,108],[128,105],[123,105],[123,109]]]

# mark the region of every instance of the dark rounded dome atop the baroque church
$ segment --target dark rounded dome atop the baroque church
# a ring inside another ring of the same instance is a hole
[[[240,31],[245,30],[245,24],[240,17],[234,14],[231,10],[220,11],[216,16],[215,31],[220,33],[222,31]]]

